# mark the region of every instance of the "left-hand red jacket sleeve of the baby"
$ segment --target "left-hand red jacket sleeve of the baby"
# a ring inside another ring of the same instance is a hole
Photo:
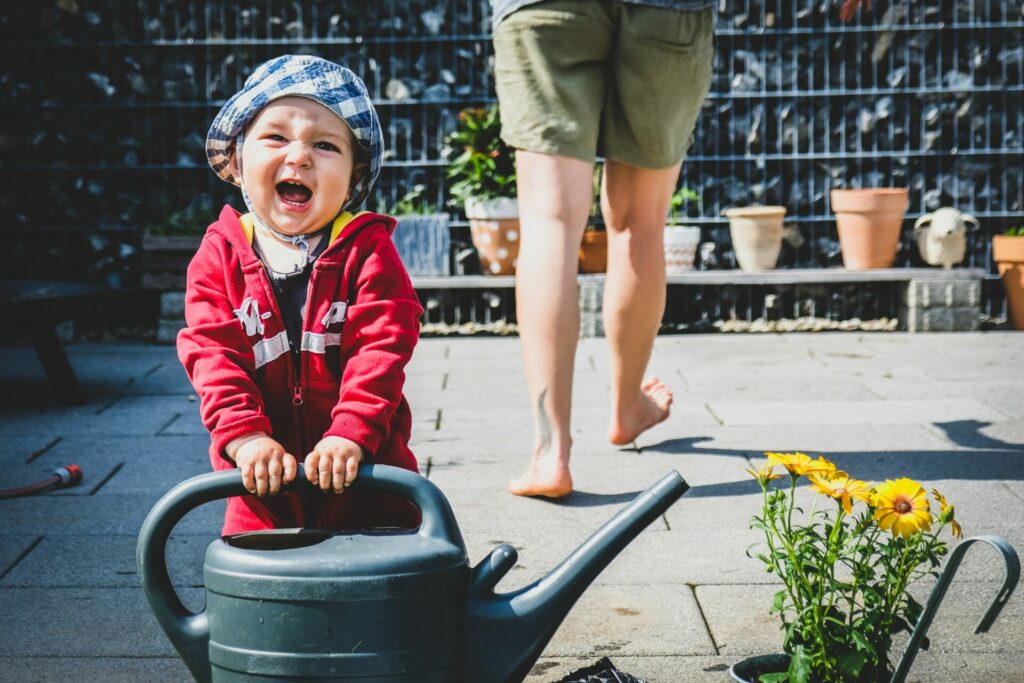
[[[186,327],[178,333],[177,348],[199,394],[203,424],[226,460],[224,446],[232,439],[256,431],[269,434],[271,427],[253,380],[252,345],[227,295],[227,269],[232,265],[225,256],[215,241],[205,238],[188,264]]]

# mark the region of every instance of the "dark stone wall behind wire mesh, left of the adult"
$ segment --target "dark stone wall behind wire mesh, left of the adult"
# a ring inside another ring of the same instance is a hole
[[[477,0],[43,0],[0,15],[3,228],[13,276],[139,282],[143,230],[199,234],[238,190],[210,171],[206,131],[252,69],[284,53],[367,82],[386,163],[370,208],[423,185],[444,204],[444,134],[494,99]],[[42,240],[42,244],[40,244]]]

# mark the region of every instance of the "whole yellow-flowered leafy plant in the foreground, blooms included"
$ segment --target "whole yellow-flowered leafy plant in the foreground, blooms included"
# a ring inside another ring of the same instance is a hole
[[[766,550],[752,552],[752,547],[748,555],[784,585],[771,611],[782,621],[790,668],[760,680],[884,680],[893,635],[911,631],[923,610],[907,589],[936,573],[947,551],[939,540],[946,526],[963,537],[952,506],[933,488],[939,506],[933,515],[924,487],[911,479],[872,487],[821,457],[766,455],[767,465],[748,470],[763,492],[761,514],[751,527],[764,532]],[[788,490],[770,489],[769,482],[783,476],[776,466],[788,471]],[[797,506],[797,484],[804,477],[835,500],[831,509],[816,509],[821,496],[807,514]]]

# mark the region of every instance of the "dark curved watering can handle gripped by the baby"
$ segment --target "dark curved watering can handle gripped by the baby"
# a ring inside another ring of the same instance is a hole
[[[460,547],[465,545],[447,500],[436,485],[416,472],[388,465],[362,465],[353,485],[369,486],[411,501],[423,516],[420,536],[441,539]],[[296,476],[284,488],[295,486],[312,487],[313,484],[305,477]],[[157,621],[198,681],[210,680],[210,624],[205,609],[198,613],[189,611],[174,591],[167,572],[167,539],[185,514],[204,503],[248,495],[237,469],[201,474],[182,481],[161,498],[139,530],[135,557],[142,589]]]

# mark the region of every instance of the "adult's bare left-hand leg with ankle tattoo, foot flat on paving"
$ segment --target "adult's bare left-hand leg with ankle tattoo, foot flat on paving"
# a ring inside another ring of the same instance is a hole
[[[516,177],[516,316],[536,440],[529,467],[509,482],[509,490],[557,498],[572,490],[569,418],[580,336],[577,264],[590,212],[593,164],[517,150]]]

